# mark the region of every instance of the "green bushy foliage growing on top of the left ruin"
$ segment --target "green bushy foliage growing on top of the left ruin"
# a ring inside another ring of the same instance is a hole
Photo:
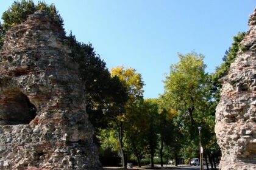
[[[35,5],[32,0],[21,0],[14,1],[12,6],[2,14],[2,19],[4,20],[2,24],[3,29],[7,31],[10,27],[21,24],[26,21],[27,16],[35,13],[37,10],[48,12],[60,26],[63,26],[63,19],[54,4],[48,5],[43,1],[39,1],[38,4]]]

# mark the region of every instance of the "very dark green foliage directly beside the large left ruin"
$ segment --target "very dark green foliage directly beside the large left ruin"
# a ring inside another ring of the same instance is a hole
[[[79,76],[85,83],[87,113],[94,127],[107,127],[123,109],[127,89],[118,77],[111,77],[106,64],[91,44],[83,44],[69,34],[71,57],[79,64]]]

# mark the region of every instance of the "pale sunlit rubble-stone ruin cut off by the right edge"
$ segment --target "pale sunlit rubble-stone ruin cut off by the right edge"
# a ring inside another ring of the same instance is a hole
[[[221,100],[216,107],[219,169],[256,169],[256,9],[229,74],[221,78]]]

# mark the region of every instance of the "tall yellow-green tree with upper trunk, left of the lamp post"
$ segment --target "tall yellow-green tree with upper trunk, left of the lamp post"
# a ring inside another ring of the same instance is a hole
[[[207,106],[208,81],[204,56],[197,53],[179,54],[180,62],[172,64],[165,80],[166,107],[179,112],[183,123],[189,127],[193,138],[196,122],[194,117]]]

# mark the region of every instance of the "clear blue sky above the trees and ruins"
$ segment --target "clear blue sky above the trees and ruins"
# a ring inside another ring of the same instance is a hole
[[[256,0],[44,0],[54,3],[66,32],[91,42],[108,68],[141,73],[144,97],[163,93],[165,73],[177,53],[205,55],[207,72],[222,63],[232,37],[247,31]],[[0,13],[11,0],[0,0]],[[37,1],[34,1],[37,2]]]

